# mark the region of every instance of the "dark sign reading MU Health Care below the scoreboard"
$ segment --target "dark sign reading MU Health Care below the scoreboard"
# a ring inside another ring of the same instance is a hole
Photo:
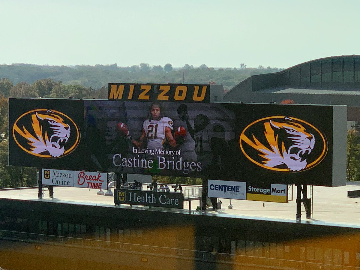
[[[184,194],[177,192],[115,189],[114,203],[183,209]]]

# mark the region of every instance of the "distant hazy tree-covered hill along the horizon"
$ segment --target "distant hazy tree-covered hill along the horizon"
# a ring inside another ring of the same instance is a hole
[[[9,78],[14,85],[19,82],[33,82],[45,78],[62,81],[62,84],[82,85],[99,89],[106,87],[109,82],[161,82],[161,83],[186,83],[208,84],[215,82],[224,85],[230,90],[247,77],[256,74],[278,72],[278,68],[208,68],[205,64],[194,68],[186,64],[182,68],[172,68],[171,64],[164,67],[152,66],[141,63],[131,67],[118,67],[117,64],[95,66],[38,66],[34,64],[0,65],[0,78]]]

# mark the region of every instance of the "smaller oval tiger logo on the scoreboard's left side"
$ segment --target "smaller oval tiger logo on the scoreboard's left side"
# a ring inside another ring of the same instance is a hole
[[[58,158],[77,147],[80,131],[66,114],[36,109],[22,114],[15,121],[13,137],[21,149],[33,156]]]

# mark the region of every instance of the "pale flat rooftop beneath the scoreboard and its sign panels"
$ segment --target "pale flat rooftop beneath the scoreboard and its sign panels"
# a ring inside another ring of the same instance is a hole
[[[184,194],[191,194],[188,190],[192,187],[183,186]],[[145,188],[146,189],[146,188]],[[198,187],[195,187],[198,189]],[[323,186],[314,186],[313,189],[313,214],[312,220],[306,219],[305,209],[302,207],[302,220],[296,220],[296,187],[293,188],[293,194],[289,194],[288,203],[260,202],[260,201],[243,201],[231,200],[233,209],[229,209],[229,199],[220,199],[222,201],[221,209],[212,211],[199,212],[195,209],[199,206],[198,201],[192,202],[192,212],[189,213],[189,201],[184,201],[183,210],[168,210],[168,208],[152,207],[150,211],[171,211],[183,212],[186,215],[216,215],[221,217],[236,217],[243,219],[260,219],[281,222],[301,222],[321,225],[337,225],[360,228],[360,198],[348,198],[348,190],[360,189],[359,184],[348,184],[346,186],[330,188]],[[0,190],[0,198],[30,200],[42,202],[86,204],[99,207],[120,207],[132,208],[149,211],[148,206],[129,206],[121,204],[115,206],[112,196],[97,195],[98,190],[55,187],[54,198],[49,198],[49,192],[45,190],[44,197],[38,198],[37,187],[35,188],[18,188]],[[290,189],[290,192],[292,190]],[[186,196],[185,196],[186,197]]]

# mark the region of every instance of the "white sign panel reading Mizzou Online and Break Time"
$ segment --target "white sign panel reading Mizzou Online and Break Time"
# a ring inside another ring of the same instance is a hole
[[[42,184],[107,189],[108,174],[104,172],[42,169]]]

